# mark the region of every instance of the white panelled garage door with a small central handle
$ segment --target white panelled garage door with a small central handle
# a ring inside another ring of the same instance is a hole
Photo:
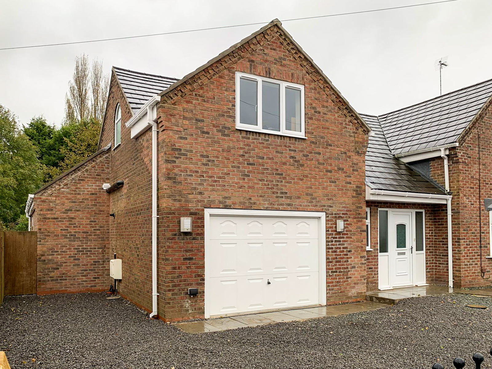
[[[324,304],[319,283],[324,218],[249,212],[254,215],[209,218],[207,317]],[[268,212],[277,213],[282,212]]]

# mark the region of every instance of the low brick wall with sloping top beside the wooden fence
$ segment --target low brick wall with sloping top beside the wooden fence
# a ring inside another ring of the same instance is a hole
[[[102,152],[35,194],[37,291],[98,291],[109,287],[109,152]]]

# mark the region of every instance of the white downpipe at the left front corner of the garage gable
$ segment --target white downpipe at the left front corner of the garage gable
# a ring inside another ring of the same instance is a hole
[[[152,120],[152,106],[147,107],[148,123],[152,125],[152,313],[157,315],[157,123]]]

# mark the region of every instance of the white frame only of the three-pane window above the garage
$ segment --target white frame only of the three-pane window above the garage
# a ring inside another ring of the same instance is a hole
[[[241,124],[240,122],[240,80],[241,78],[246,78],[249,80],[256,81],[257,83],[257,122],[258,125],[251,124]],[[262,127],[262,82],[270,82],[280,85],[280,131],[274,131],[270,129],[263,129]],[[301,131],[291,131],[285,128],[285,89],[290,88],[294,90],[301,91]],[[261,76],[256,76],[254,74],[236,72],[236,129],[242,129],[246,131],[254,132],[264,132],[270,134],[276,134],[280,136],[290,136],[306,138],[305,129],[305,109],[304,109],[305,99],[304,99],[304,86],[298,85],[296,83],[290,83],[285,81],[279,81],[272,78],[266,78]]]

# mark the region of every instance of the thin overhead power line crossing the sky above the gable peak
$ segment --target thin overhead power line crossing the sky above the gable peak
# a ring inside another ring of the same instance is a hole
[[[348,13],[338,13],[338,14],[327,14],[327,15],[317,15],[314,17],[303,17],[303,18],[292,18],[292,19],[284,19],[280,22],[291,22],[291,21],[301,21],[306,19],[315,19],[315,18],[327,18],[327,17],[337,17],[340,15],[350,15],[350,14],[362,14],[362,13],[371,13],[375,11],[382,10],[393,10],[393,9],[402,9],[402,8],[411,8],[415,6],[423,6],[423,5],[431,5],[431,4],[440,4],[443,2],[451,2],[451,1],[460,1],[460,0],[442,0],[442,1],[434,1],[434,2],[425,2],[422,4],[412,4],[412,5],[403,5],[403,6],[394,6],[391,8],[381,8],[381,9],[371,9],[371,10],[361,10],[361,11],[352,11]],[[186,30],[186,31],[173,31],[173,32],[162,32],[162,33],[151,33],[151,34],[141,34],[138,36],[126,36],[126,37],[113,37],[113,38],[101,38],[98,40],[87,40],[87,41],[73,41],[73,42],[60,42],[56,44],[44,44],[44,45],[31,45],[31,46],[16,46],[16,47],[4,47],[0,48],[0,50],[13,50],[13,49],[30,49],[34,47],[45,47],[45,46],[60,46],[60,45],[74,45],[74,44],[85,44],[89,42],[101,42],[101,41],[114,41],[114,40],[125,40],[129,38],[140,38],[140,37],[152,37],[152,36],[162,36],[166,34],[175,34],[175,33],[188,33],[188,32],[198,32],[198,31],[210,31],[210,30],[220,30],[225,28],[233,28],[233,27],[245,27],[245,26],[254,26],[260,24],[268,24],[270,22],[256,22],[256,23],[245,23],[238,24],[232,26],[221,26],[221,27],[210,27],[210,28],[200,28],[196,30]]]

